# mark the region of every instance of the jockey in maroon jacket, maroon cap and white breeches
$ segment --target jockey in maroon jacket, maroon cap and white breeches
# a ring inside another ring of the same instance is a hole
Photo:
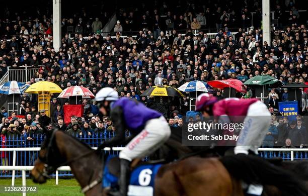
[[[201,111],[204,117],[214,116],[222,122],[245,122],[234,149],[235,154],[248,154],[249,150],[258,154],[258,147],[271,121],[266,105],[257,99],[227,98],[218,101],[212,94],[202,93],[197,97],[196,111]]]

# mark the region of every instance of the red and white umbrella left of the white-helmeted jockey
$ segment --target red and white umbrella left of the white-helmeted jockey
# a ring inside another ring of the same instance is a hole
[[[83,98],[94,98],[95,95],[84,86],[70,86],[65,88],[58,98],[68,98],[70,96],[83,96]]]

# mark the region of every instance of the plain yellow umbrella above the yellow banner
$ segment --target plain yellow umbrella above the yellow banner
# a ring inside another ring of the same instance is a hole
[[[26,90],[28,93],[38,93],[38,91],[48,91],[50,93],[62,92],[62,89],[55,83],[49,81],[39,81]]]

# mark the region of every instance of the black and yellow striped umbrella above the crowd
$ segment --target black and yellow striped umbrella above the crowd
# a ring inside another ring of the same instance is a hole
[[[159,85],[149,87],[141,96],[184,96],[184,94],[174,87]]]

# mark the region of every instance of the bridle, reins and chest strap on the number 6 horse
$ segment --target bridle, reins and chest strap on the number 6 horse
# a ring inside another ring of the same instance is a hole
[[[50,159],[49,156],[50,154],[52,154],[54,157],[54,160],[56,160],[56,158],[61,157],[58,149],[55,149],[54,147],[56,147],[56,145],[52,145],[53,144],[53,140],[55,138],[55,133],[58,130],[55,130],[52,132],[52,135],[49,139],[47,148],[46,148],[46,154],[45,156],[41,156],[40,154],[38,154],[38,159],[44,163],[44,169],[43,171],[39,171],[36,167],[34,167],[34,169],[39,173],[39,176],[43,176],[45,178],[51,178],[49,174],[53,173],[58,167],[60,166],[64,166],[64,165],[68,165],[71,162],[74,162],[76,160],[79,160],[80,158],[84,158],[92,153],[95,153],[96,151],[90,151],[90,152],[86,152],[84,154],[81,154],[80,156],[76,156],[70,160],[64,161],[63,163],[58,163],[58,164],[51,164],[50,163]],[[52,151],[50,153],[50,150]],[[91,179],[91,178],[90,178]],[[85,193],[88,190],[90,190],[91,188],[93,188],[95,185],[97,185],[98,183],[100,183],[102,181],[102,174],[99,175],[99,177],[92,181],[91,183],[89,183],[87,186],[85,186],[84,188],[82,188],[82,192]]]

